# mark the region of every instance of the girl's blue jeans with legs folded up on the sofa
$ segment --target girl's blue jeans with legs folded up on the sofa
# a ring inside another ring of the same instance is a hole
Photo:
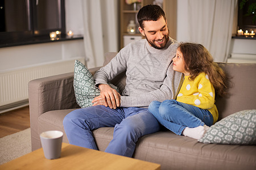
[[[212,126],[213,116],[208,110],[200,109],[190,104],[176,100],[152,101],[148,107],[155,118],[167,129],[177,135],[182,135],[183,130],[197,126]]]

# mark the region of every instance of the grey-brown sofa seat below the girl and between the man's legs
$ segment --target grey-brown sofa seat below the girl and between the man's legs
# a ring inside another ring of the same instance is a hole
[[[99,150],[104,151],[113,138],[114,128],[93,131]],[[186,169],[251,169],[256,167],[256,146],[217,145],[197,142],[171,131],[159,131],[141,137],[133,157],[161,164],[161,168]],[[186,163],[184,163],[186,158]]]

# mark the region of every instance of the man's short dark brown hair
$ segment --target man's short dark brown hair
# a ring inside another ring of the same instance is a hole
[[[164,20],[166,20],[166,14],[164,14],[163,9],[158,5],[146,5],[143,6],[137,15],[137,20],[139,22],[139,26],[143,29],[144,28],[144,20],[158,20],[163,16]]]

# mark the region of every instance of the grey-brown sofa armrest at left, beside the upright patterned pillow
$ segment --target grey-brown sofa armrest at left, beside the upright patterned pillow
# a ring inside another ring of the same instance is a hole
[[[100,67],[89,69],[94,74]],[[38,135],[38,117],[48,111],[79,108],[73,88],[74,73],[48,76],[28,82],[31,140]],[[35,139],[36,140],[36,139]]]

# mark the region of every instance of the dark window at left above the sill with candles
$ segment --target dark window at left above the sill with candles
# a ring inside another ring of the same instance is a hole
[[[64,0],[0,0],[0,44],[49,39],[65,34]]]

